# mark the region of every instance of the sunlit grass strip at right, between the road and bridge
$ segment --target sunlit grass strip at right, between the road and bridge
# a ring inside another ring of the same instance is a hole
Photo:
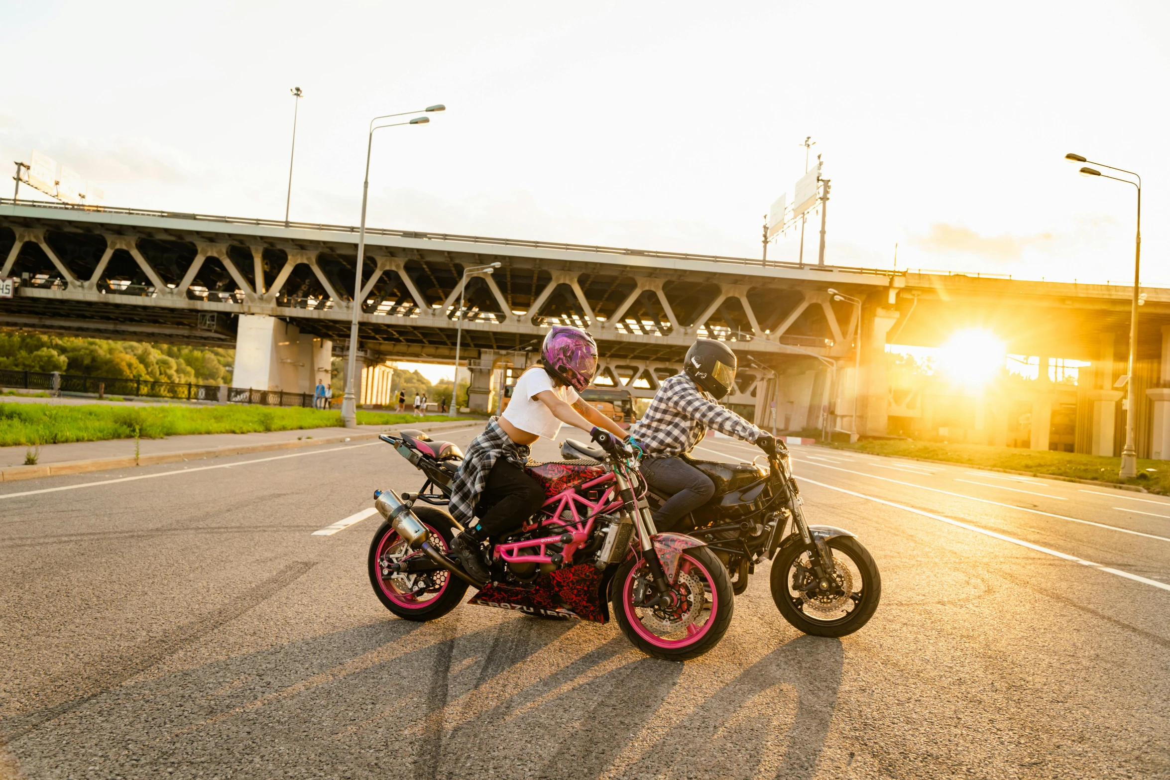
[[[1101,455],[1078,455],[1018,449],[1014,447],[987,447],[984,444],[943,444],[940,442],[904,440],[867,440],[855,444],[833,444],[834,449],[851,449],[874,455],[896,455],[928,461],[947,461],[992,469],[1027,471],[1075,479],[1093,479],[1114,484],[1141,485],[1150,492],[1170,495],[1170,462],[1137,461],[1137,477],[1122,479],[1120,457]],[[1147,471],[1147,469],[1154,469]]]

